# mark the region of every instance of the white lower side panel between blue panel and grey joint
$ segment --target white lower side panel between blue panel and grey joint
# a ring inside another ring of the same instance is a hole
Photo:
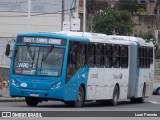
[[[120,87],[120,99],[127,98],[127,68],[90,68],[87,83],[87,100],[112,99],[114,86]]]

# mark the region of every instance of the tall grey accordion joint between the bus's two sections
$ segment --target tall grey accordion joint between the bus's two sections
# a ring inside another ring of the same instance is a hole
[[[130,44],[129,49],[129,83],[128,83],[128,95],[127,98],[135,97],[136,92],[136,79],[137,77],[137,45],[136,43]]]

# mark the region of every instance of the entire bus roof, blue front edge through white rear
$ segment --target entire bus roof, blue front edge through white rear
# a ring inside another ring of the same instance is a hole
[[[98,42],[98,43],[114,43],[114,44],[125,44],[129,45],[130,43],[137,42],[141,46],[151,46],[154,47],[153,43],[147,43],[144,39],[133,36],[119,36],[119,35],[106,35],[101,33],[89,33],[89,32],[72,32],[72,31],[60,31],[60,32],[36,32],[36,33],[22,33],[19,35],[53,35],[56,36],[62,35],[69,37],[71,39],[78,38],[86,38],[90,42]]]

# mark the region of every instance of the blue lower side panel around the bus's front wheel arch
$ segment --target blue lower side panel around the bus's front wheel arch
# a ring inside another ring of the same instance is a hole
[[[73,77],[66,83],[64,100],[65,101],[75,101],[77,100],[78,90],[81,84],[85,85],[86,93],[86,84],[88,79],[89,69],[87,67],[80,68]]]

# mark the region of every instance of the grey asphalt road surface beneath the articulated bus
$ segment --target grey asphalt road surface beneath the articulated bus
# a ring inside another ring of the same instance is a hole
[[[100,111],[160,111],[160,96],[153,95],[149,98],[145,99],[145,103],[130,103],[130,101],[122,101],[119,102],[117,106],[102,106],[100,103],[97,102],[89,102],[85,103],[84,107],[82,108],[74,108],[69,105],[65,105],[63,102],[59,101],[48,101],[48,102],[42,102],[39,103],[36,107],[28,107],[25,102],[0,102],[0,111],[34,111],[34,112],[40,112],[40,111],[96,111],[95,114],[98,114]],[[160,113],[159,113],[160,114]],[[116,118],[110,118],[111,120],[128,120],[128,117],[116,117]],[[17,120],[17,118],[15,118]],[[34,120],[37,120],[37,118],[32,118]],[[39,120],[43,120],[44,118],[38,118]],[[45,118],[45,119],[51,119],[51,118]],[[56,118],[56,120],[62,120],[60,117]],[[81,118],[74,118],[74,117],[65,117],[65,120],[82,120]],[[101,117],[100,119],[98,117],[90,118],[86,117],[87,120],[106,120],[105,117]],[[107,117],[107,120],[109,117]],[[159,118],[154,117],[154,120],[158,120]],[[135,118],[132,117],[132,120],[151,120],[151,117],[141,117],[141,118]],[[152,118],[153,120],[153,118]]]

